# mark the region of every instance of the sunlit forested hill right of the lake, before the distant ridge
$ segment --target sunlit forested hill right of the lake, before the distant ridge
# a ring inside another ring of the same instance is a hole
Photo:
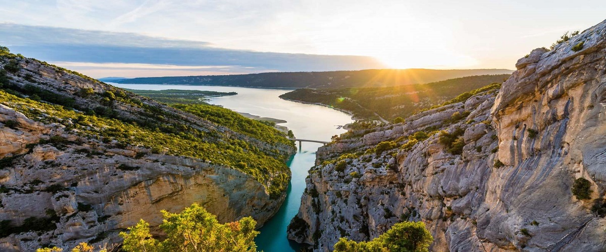
[[[490,83],[502,83],[509,74],[468,76],[441,82],[382,88],[302,88],[280,95],[299,102],[321,103],[353,112],[356,117],[387,120],[407,117],[421,109],[440,105],[458,95]],[[375,114],[376,113],[376,114]]]

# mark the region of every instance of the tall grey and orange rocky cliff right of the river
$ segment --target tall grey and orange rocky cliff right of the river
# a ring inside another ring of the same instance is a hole
[[[606,21],[516,67],[498,94],[321,148],[289,238],[329,251],[423,221],[432,251],[606,250]]]

